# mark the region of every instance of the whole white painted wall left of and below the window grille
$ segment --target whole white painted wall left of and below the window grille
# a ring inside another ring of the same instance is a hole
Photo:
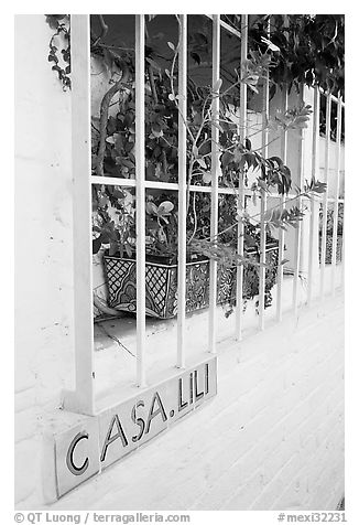
[[[17,507],[335,508],[344,493],[341,297],[240,346],[221,343],[211,401],[46,504],[53,421],[75,418],[59,410],[74,373],[70,94],[47,62],[51,35],[43,15],[15,18]]]

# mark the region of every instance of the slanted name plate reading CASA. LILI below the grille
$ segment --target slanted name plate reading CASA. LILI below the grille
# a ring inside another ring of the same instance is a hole
[[[217,357],[55,436],[57,495],[137,450],[217,394]]]

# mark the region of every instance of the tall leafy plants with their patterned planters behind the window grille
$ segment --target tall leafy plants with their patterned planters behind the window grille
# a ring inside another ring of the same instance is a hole
[[[146,54],[145,83],[145,162],[146,179],[174,182],[177,176],[177,121],[178,95],[176,93],[177,47],[168,42],[173,52],[166,68],[157,61],[149,46]],[[94,172],[98,175],[134,178],[134,85],[133,57],[119,55],[112,49],[93,45],[93,53],[104,58],[111,69],[116,66],[121,74],[112,79],[105,94],[99,119],[93,122]],[[200,56],[196,52],[196,61]],[[109,65],[110,64],[110,65]],[[260,219],[251,217],[246,208],[238,216],[236,188],[240,180],[252,191],[253,199],[275,188],[287,194],[291,189],[291,172],[278,157],[264,158],[260,149],[253,149],[244,130],[238,131],[233,119],[238,109],[238,86],[246,83],[258,92],[272,64],[270,44],[264,52],[251,53],[241,65],[237,82],[226,85],[220,94],[220,116],[214,120],[211,100],[218,96],[218,86],[197,86],[188,78],[187,118],[187,311],[208,304],[209,258],[218,260],[219,303],[233,303],[236,268],[244,267],[244,297],[258,293],[259,225]],[[117,114],[109,115],[109,106],[120,93]],[[268,126],[271,129],[306,127],[311,108],[291,108],[278,114]],[[232,188],[231,204],[221,199],[220,232],[216,239],[209,235],[209,206],[205,193],[189,192],[191,184],[210,184],[210,129],[216,124],[220,128],[219,151],[221,174],[219,183]],[[259,131],[255,131],[259,132]],[[255,132],[253,135],[255,135]],[[249,173],[254,173],[249,181]],[[320,183],[312,184],[312,191],[323,191]],[[298,192],[301,194],[301,192]],[[304,194],[304,193],[303,193]],[[105,244],[109,250],[104,255],[111,308],[135,311],[135,258],[134,258],[134,208],[129,190],[117,186],[94,188],[94,253]],[[151,190],[146,192],[146,311],[153,317],[171,318],[176,313],[176,253],[177,253],[177,203],[171,192]],[[225,210],[226,208],[226,210]],[[268,260],[266,306],[270,304],[270,289],[274,285],[278,267],[278,245],[270,237],[271,227],[295,225],[303,212],[295,206],[291,210],[274,210],[266,219]],[[117,217],[117,218],[116,218]],[[244,224],[244,255],[236,250],[238,222]]]

